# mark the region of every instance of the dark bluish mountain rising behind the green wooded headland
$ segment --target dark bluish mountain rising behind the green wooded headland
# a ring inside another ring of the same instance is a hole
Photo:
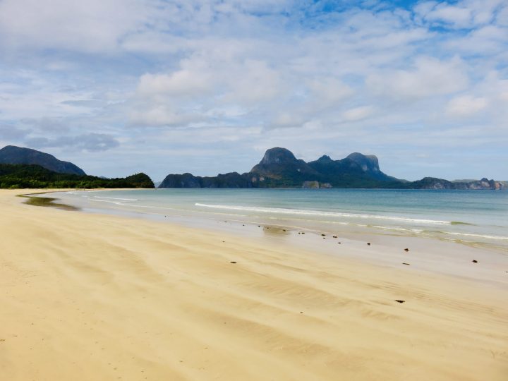
[[[86,175],[83,169],[70,162],[63,162],[53,155],[14,145],[7,145],[0,150],[0,164],[35,164],[59,174]]]

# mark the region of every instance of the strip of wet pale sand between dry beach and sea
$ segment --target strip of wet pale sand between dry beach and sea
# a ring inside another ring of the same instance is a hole
[[[94,189],[92,191],[111,190]],[[125,190],[121,189],[121,191]],[[62,191],[52,193],[60,192]],[[83,192],[87,192],[87,190],[83,190]],[[340,232],[334,233],[331,229],[313,229],[291,224],[234,219],[231,217],[237,216],[229,214],[224,214],[224,219],[219,220],[217,218],[193,217],[188,214],[164,215],[150,213],[146,210],[131,212],[123,209],[90,208],[79,203],[69,205],[77,207],[80,212],[90,214],[126,219],[135,218],[171,224],[176,228],[185,226],[188,229],[233,235],[235,238],[269,241],[271,244],[287,246],[294,250],[306,250],[321,255],[361,260],[371,265],[396,269],[411,266],[413,271],[428,274],[471,279],[483,284],[508,285],[506,277],[506,271],[508,271],[507,253],[500,248],[490,248],[487,244],[475,245],[464,241],[447,241],[436,237],[416,235],[375,234],[372,231],[344,230],[345,226],[340,226]],[[409,251],[405,251],[405,248],[409,248]],[[383,255],[377,255],[378,252],[382,252]],[[474,260],[480,261],[480,265],[475,265]]]

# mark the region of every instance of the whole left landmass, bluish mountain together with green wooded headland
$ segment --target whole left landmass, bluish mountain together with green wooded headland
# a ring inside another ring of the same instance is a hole
[[[0,188],[155,188],[146,174],[104,179],[88,176],[73,163],[30,148],[0,150]]]

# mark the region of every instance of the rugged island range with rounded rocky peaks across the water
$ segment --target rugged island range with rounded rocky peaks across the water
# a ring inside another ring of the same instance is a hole
[[[500,181],[481,179],[452,182],[426,177],[399,180],[383,173],[374,155],[354,152],[344,159],[323,155],[313,162],[297,159],[286,148],[274,147],[244,174],[231,172],[214,177],[169,174],[159,188],[392,188],[392,189],[502,189]]]

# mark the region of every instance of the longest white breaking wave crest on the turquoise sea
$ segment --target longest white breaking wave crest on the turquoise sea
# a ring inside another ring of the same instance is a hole
[[[404,222],[416,222],[421,224],[437,224],[437,225],[449,225],[452,224],[450,221],[440,221],[437,219],[418,219],[408,217],[394,217],[384,216],[378,214],[357,214],[357,213],[342,213],[342,212],[324,212],[322,210],[299,210],[299,209],[286,209],[282,207],[246,207],[240,205],[212,205],[202,204],[196,202],[194,204],[198,207],[209,207],[214,209],[225,209],[225,210],[241,210],[243,212],[260,212],[260,213],[279,213],[279,214],[299,214],[308,216],[321,216],[321,217],[350,217],[350,218],[364,218],[364,219],[386,219],[390,221],[404,221]]]

